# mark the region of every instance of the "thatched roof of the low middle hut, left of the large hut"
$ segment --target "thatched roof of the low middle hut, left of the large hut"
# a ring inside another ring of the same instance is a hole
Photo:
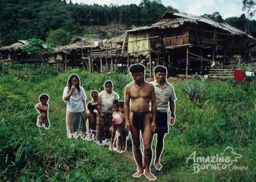
[[[70,41],[69,44],[65,46],[58,46],[56,47],[55,51],[56,52],[69,52],[72,50],[77,50],[80,48],[86,48],[86,47],[99,47],[99,46],[94,46],[94,41],[103,41],[103,47],[106,47],[107,40],[102,40],[102,39],[96,39],[96,38],[89,38],[89,37],[83,37],[83,36],[77,36],[74,40]],[[108,47],[111,48],[111,44],[108,45]],[[112,48],[115,47],[114,44],[112,44]]]

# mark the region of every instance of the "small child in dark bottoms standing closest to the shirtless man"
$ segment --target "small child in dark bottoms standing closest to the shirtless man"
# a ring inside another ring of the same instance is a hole
[[[127,151],[127,136],[129,135],[129,132],[125,129],[125,117],[124,117],[124,101],[119,101],[118,103],[118,112],[116,112],[114,115],[116,114],[120,114],[121,117],[123,118],[123,121],[118,124],[118,132],[120,133],[120,136],[118,136],[118,138],[120,138],[120,145],[118,146],[118,152],[122,151]],[[116,122],[116,119],[113,119],[113,122]],[[121,148],[122,146],[122,148]]]

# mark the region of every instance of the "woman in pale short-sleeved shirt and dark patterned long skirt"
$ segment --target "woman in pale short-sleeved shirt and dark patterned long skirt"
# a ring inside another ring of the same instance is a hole
[[[104,90],[99,93],[99,98],[101,99],[102,113],[105,116],[100,116],[97,113],[96,140],[99,143],[103,140],[107,140],[106,143],[110,143],[111,135],[109,129],[112,127],[113,102],[119,98],[118,94],[113,91],[113,84],[110,80],[104,83]]]

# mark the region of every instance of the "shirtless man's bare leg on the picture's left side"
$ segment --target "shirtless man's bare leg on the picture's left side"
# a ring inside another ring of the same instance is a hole
[[[140,130],[132,126],[132,116],[133,113],[129,112],[129,121],[131,124],[131,135],[132,135],[132,146],[133,146],[133,156],[135,157],[135,161],[138,165],[138,172],[133,174],[133,177],[139,177],[143,175],[143,167],[142,167],[142,154],[140,151]]]

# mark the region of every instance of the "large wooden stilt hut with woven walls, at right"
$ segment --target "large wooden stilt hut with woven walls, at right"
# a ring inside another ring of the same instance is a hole
[[[255,38],[226,23],[208,17],[166,12],[151,26],[127,31],[128,53],[155,60],[170,75],[203,74],[214,61],[227,66],[233,55],[248,55],[249,41]],[[246,42],[246,45],[244,44]]]

